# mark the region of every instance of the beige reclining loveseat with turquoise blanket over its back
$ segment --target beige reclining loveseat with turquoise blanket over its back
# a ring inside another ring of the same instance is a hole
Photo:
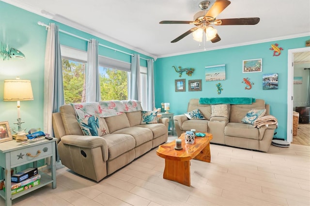
[[[251,104],[229,104],[226,117],[212,115],[211,107],[212,104],[200,104],[199,99],[189,100],[187,112],[199,109],[205,119],[188,119],[184,114],[174,116],[177,135],[196,129],[197,132],[212,133],[211,143],[268,151],[277,128],[276,122],[269,122],[257,128],[241,121],[251,109],[266,109],[265,114],[268,115],[269,105],[263,100],[256,99],[255,103]]]

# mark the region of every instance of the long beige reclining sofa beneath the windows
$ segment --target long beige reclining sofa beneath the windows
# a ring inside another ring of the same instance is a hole
[[[110,108],[113,103],[115,106],[115,102],[117,107],[121,107],[121,112],[112,114]],[[168,118],[159,118],[159,123],[141,124],[142,109],[139,102],[135,102],[138,111],[130,112],[126,105],[128,101],[99,103],[101,115],[105,116],[98,118],[104,127],[102,136],[84,135],[78,123],[77,110],[71,104],[62,105],[60,112],[53,114],[53,130],[59,140],[58,152],[62,164],[95,181],[100,181],[166,142],[169,123]],[[103,108],[105,105],[107,108]]]

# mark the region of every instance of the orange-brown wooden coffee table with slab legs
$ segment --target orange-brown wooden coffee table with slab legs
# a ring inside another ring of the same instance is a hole
[[[174,149],[175,140],[158,146],[156,154],[165,159],[164,179],[190,186],[190,160],[211,161],[210,140],[213,136],[210,133],[205,134],[204,137],[196,136],[194,144],[186,144],[185,133],[181,134],[179,139],[182,140],[182,150]]]

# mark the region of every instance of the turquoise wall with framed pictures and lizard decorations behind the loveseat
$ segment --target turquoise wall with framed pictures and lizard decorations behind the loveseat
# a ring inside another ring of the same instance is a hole
[[[169,102],[170,112],[174,115],[186,112],[188,100],[201,97],[253,97],[263,99],[270,104],[270,113],[279,121],[277,137],[286,138],[287,129],[287,78],[288,78],[288,49],[305,47],[310,36],[287,40],[279,40],[261,44],[251,44],[232,48],[204,51],[186,54],[155,61],[155,106]],[[279,44],[283,48],[279,56],[273,56],[269,50],[271,44]],[[177,44],[177,43],[176,43]],[[210,43],[212,44],[212,43]],[[207,46],[206,46],[207,47]],[[242,64],[245,59],[263,59],[262,72],[242,73]],[[226,65],[226,80],[205,81],[205,66]],[[192,76],[186,73],[179,77],[172,66],[194,68]],[[263,90],[263,74],[279,74],[279,89]],[[251,89],[245,89],[243,78],[249,78],[254,83]],[[175,92],[174,80],[186,79],[186,91]],[[202,79],[202,91],[188,91],[188,80]],[[223,88],[217,94],[216,84],[220,82]]]

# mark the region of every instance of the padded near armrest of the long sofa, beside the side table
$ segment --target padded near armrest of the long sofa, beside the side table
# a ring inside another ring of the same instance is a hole
[[[61,138],[62,144],[72,145],[81,148],[101,147],[102,158],[107,161],[109,158],[107,141],[100,136],[65,135]]]

